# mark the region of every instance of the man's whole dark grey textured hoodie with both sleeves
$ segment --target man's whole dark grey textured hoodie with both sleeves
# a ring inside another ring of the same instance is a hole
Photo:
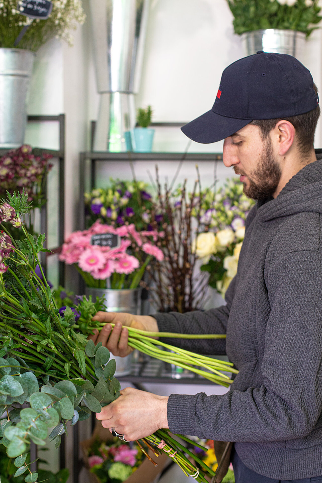
[[[235,441],[242,462],[277,480],[322,475],[322,160],[300,170],[246,221],[226,305],[156,314],[160,331],[225,333],[167,339],[226,354],[239,370],[223,396],[171,394],[173,433]]]

